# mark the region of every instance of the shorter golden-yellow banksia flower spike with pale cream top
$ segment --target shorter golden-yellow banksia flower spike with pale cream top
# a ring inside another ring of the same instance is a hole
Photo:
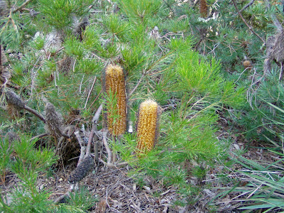
[[[137,123],[137,148],[141,152],[151,151],[158,137],[160,107],[153,100],[141,103]]]

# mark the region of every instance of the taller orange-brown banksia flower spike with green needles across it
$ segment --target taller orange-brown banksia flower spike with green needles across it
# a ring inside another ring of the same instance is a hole
[[[104,92],[116,98],[116,105],[107,101],[107,128],[114,136],[126,131],[126,85],[124,71],[119,65],[108,65],[104,72]],[[115,117],[117,118],[115,119]]]

